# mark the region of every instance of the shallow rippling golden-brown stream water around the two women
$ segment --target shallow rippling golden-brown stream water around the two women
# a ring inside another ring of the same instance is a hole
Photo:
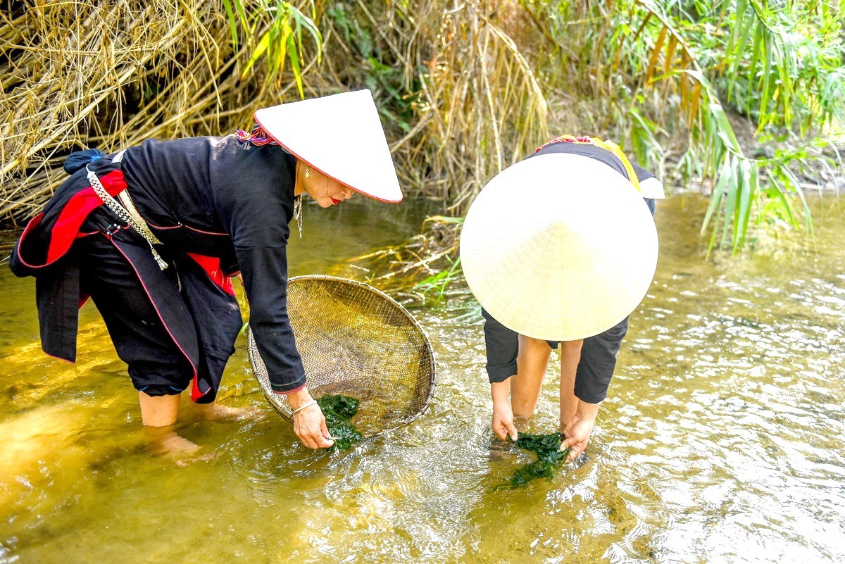
[[[241,341],[221,402],[265,417],[208,423],[183,405],[182,434],[217,458],[179,468],[147,451],[95,309],[77,363],[52,360],[33,281],[3,266],[0,562],[845,561],[845,204],[814,205],[815,246],[762,241],[734,262],[702,258],[700,199],[663,202],[656,279],[589,459],[516,491],[492,491],[531,458],[491,441],[480,324],[413,310],[439,362],[431,408],[333,454],[296,442]],[[423,218],[354,200],[305,211],[292,274],[401,241]],[[536,431],[554,430],[553,372]]]

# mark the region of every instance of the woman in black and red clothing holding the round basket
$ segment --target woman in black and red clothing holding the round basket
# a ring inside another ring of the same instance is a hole
[[[356,192],[402,198],[369,90],[264,108],[255,120],[252,133],[71,155],[70,178],[10,260],[15,274],[37,279],[50,355],[75,360],[77,309],[93,299],[128,364],[145,428],[160,430],[158,444],[177,456],[199,449],[172,432],[183,391],[208,415],[229,415],[213,402],[242,326],[236,274],[297,436],[331,446],[287,317],[288,224],[301,220],[304,195],[323,208]]]

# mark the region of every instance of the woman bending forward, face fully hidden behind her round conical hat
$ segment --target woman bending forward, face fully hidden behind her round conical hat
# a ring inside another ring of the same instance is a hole
[[[493,432],[518,437],[560,344],[561,450],[589,441],[628,316],[651,285],[662,184],[596,138],[562,136],[510,166],[466,214],[461,265],[482,306]]]

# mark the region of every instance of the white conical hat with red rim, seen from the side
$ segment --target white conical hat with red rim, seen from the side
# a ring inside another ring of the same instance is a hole
[[[263,108],[255,121],[276,143],[326,176],[383,202],[401,202],[379,111],[369,90]]]

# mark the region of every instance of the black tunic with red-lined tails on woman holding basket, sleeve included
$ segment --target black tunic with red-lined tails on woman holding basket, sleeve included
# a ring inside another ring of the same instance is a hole
[[[287,224],[293,216],[294,157],[278,146],[241,144],[228,136],[148,140],[127,149],[119,165],[109,161],[104,158],[90,168],[110,193],[128,187],[139,214],[161,240],[161,254],[168,262],[188,255],[198,261],[213,260],[226,283],[228,276],[243,274],[250,323],[273,389],[284,393],[301,388],[305,374],[286,311],[286,241]],[[44,212],[30,221],[10,260],[15,274],[35,275],[38,282],[46,352],[74,360],[75,308],[80,301],[79,258],[75,257],[79,245],[74,241],[105,235],[137,272],[153,305],[161,310],[168,333],[185,351],[194,371],[204,366],[200,350],[227,358],[237,334],[232,332],[233,317],[224,313],[226,320],[215,323],[213,316],[231,311],[233,297],[208,289],[195,292],[190,299],[186,297],[190,292],[174,294],[149,247],[144,249],[146,243],[125,225],[123,229],[98,225],[99,231],[83,232],[98,214],[112,214],[105,206],[97,209],[100,203],[85,171],[77,172],[46,204]],[[113,214],[112,219],[117,225],[122,223]],[[216,270],[206,270],[210,276],[216,275]],[[220,328],[215,327],[218,324]]]

